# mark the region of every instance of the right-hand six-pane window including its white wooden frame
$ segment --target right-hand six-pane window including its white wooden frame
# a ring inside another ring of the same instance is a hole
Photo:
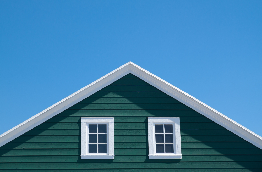
[[[148,117],[149,159],[179,159],[181,154],[179,117]]]

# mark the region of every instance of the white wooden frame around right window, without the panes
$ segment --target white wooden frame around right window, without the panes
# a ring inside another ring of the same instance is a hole
[[[155,124],[173,124],[174,153],[156,153]],[[181,159],[181,138],[179,117],[148,117],[149,159]]]

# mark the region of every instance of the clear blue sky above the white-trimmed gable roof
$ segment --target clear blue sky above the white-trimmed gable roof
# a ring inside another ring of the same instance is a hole
[[[262,136],[262,1],[0,1],[0,134],[132,61]]]

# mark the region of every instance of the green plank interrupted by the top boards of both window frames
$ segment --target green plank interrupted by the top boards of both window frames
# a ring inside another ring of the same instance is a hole
[[[90,116],[91,117],[91,116]],[[80,116],[54,116],[53,118],[46,121],[47,123],[77,123],[81,122]],[[146,116],[114,116],[114,122],[116,123],[145,123],[147,122]],[[181,116],[180,122],[211,122],[210,119],[206,118],[205,116]]]

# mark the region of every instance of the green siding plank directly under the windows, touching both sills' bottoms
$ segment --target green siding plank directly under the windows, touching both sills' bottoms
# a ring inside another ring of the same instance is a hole
[[[79,156],[2,156],[0,163],[37,163],[37,162],[234,162],[262,161],[260,155],[204,155],[183,156],[182,159],[148,159],[148,156],[115,156],[110,159],[80,159]]]

